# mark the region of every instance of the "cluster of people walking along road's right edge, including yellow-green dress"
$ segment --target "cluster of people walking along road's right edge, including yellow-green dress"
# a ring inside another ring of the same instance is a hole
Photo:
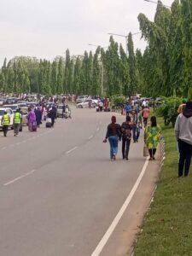
[[[110,144],[111,160],[116,160],[118,145],[121,140],[122,159],[129,160],[131,139],[133,139],[133,143],[138,143],[142,129],[144,129],[144,143],[148,148],[149,160],[155,160],[155,153],[160,144],[161,131],[155,116],[152,116],[148,123],[149,113],[150,110],[146,102],[143,106],[135,106],[134,102],[127,102],[125,104],[125,122],[119,125],[116,123],[116,117],[112,117],[106,137],[103,140],[103,143],[107,143],[108,140]]]

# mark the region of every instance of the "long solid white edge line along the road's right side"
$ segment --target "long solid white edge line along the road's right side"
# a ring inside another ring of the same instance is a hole
[[[145,161],[142,172],[140,173],[139,177],[137,178],[137,182],[134,184],[133,188],[131,189],[131,192],[128,195],[125,203],[120,208],[117,216],[113,219],[112,224],[109,226],[107,232],[102,237],[102,240],[99,242],[99,244],[97,245],[95,251],[91,254],[91,256],[99,256],[100,253],[102,253],[102,249],[105,247],[106,243],[108,242],[108,239],[113,234],[113,230],[119,224],[119,220],[122,218],[123,214],[125,213],[126,208],[129,206],[133,195],[135,195],[137,188],[142,181],[143,175],[145,174],[147,167],[148,167],[148,159]]]

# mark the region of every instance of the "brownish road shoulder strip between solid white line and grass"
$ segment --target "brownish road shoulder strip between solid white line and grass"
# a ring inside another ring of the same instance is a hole
[[[143,161],[144,163],[144,161]],[[143,218],[148,211],[160,171],[160,150],[155,161],[150,161],[138,189],[127,207],[118,226],[113,231],[102,256],[131,255],[137,234],[143,224]]]

